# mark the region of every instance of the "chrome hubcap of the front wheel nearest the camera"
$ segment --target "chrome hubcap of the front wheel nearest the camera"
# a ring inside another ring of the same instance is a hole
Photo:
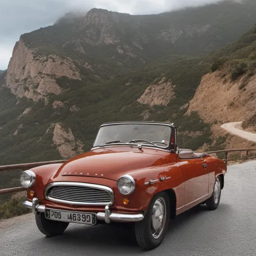
[[[163,198],[158,198],[153,205],[151,217],[151,234],[154,239],[158,239],[163,233],[166,221],[166,204]]]

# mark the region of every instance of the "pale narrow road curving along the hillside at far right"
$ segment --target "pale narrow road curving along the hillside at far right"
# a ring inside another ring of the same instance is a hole
[[[250,142],[256,142],[256,133],[243,131],[241,124],[242,122],[233,122],[223,124],[220,127],[234,135],[249,140]]]

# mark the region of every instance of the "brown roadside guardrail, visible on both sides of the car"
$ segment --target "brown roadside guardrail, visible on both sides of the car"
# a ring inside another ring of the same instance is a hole
[[[228,153],[230,152],[246,152],[246,156],[243,158],[236,158],[236,159],[228,159]],[[253,157],[248,157],[248,153],[250,151],[256,151],[256,149],[234,149],[234,150],[217,150],[217,151],[210,151],[207,152],[209,154],[217,154],[217,153],[225,153],[225,159],[222,159],[225,161],[225,164],[227,164],[228,161],[232,160],[248,160],[248,159],[254,159],[256,156]],[[15,164],[15,165],[3,165],[0,166],[0,172],[2,171],[11,171],[11,170],[24,170],[24,169],[30,169],[34,167],[38,167],[41,165],[48,165],[48,164],[62,164],[65,163],[67,160],[57,160],[57,161],[45,161],[45,162],[38,162],[38,163],[29,163],[29,164]],[[19,192],[19,191],[24,191],[26,188],[24,187],[13,187],[13,188],[5,188],[3,190],[0,190],[0,195],[1,194],[9,194],[9,193],[14,193],[14,192]]]

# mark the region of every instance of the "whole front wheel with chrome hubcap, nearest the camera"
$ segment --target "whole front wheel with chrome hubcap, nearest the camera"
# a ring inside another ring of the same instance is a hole
[[[170,221],[170,198],[165,192],[153,197],[142,221],[135,223],[136,239],[143,250],[152,250],[161,244]]]

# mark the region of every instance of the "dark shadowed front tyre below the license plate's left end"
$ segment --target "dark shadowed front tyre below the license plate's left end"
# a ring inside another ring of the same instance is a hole
[[[46,235],[46,237],[53,237],[62,234],[69,226],[68,222],[49,220],[45,218],[44,213],[36,214],[36,224],[38,229]]]

